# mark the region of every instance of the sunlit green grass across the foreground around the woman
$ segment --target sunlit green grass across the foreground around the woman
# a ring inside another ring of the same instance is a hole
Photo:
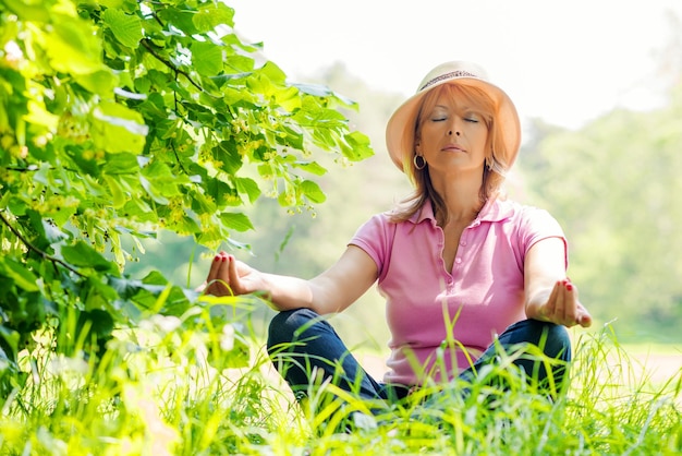
[[[315,397],[303,406],[293,400],[261,340],[243,338],[232,325],[197,327],[188,321],[155,317],[135,331],[120,331],[98,363],[41,352],[38,344],[23,359],[28,381],[0,401],[0,454],[682,452],[682,373],[648,375],[608,328],[575,341],[570,388],[553,403],[525,382],[512,382],[504,393],[479,384],[466,399],[443,394],[424,407],[415,396],[378,422],[339,433],[312,412],[320,411]],[[246,345],[251,358],[235,368]],[[321,412],[338,406],[322,406]],[[349,398],[333,417],[352,420],[352,410],[366,407]]]

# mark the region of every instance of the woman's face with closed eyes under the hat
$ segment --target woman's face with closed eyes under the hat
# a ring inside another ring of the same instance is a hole
[[[440,91],[433,107],[425,105],[416,151],[424,156],[431,176],[480,171],[484,167],[488,121],[467,98]]]

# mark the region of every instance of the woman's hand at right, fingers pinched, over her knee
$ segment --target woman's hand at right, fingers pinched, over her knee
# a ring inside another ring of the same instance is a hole
[[[569,279],[558,280],[547,299],[538,309],[543,320],[568,327],[592,325],[589,312],[577,299],[577,288]]]

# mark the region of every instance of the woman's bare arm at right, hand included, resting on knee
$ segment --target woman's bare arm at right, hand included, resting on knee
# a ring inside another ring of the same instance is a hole
[[[564,326],[592,325],[577,288],[565,276],[565,244],[561,238],[536,242],[525,259],[526,316]]]

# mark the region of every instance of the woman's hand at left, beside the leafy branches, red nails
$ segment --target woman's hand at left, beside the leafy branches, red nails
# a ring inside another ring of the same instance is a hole
[[[247,295],[264,289],[260,272],[226,252],[216,254],[203,291],[214,296]]]

